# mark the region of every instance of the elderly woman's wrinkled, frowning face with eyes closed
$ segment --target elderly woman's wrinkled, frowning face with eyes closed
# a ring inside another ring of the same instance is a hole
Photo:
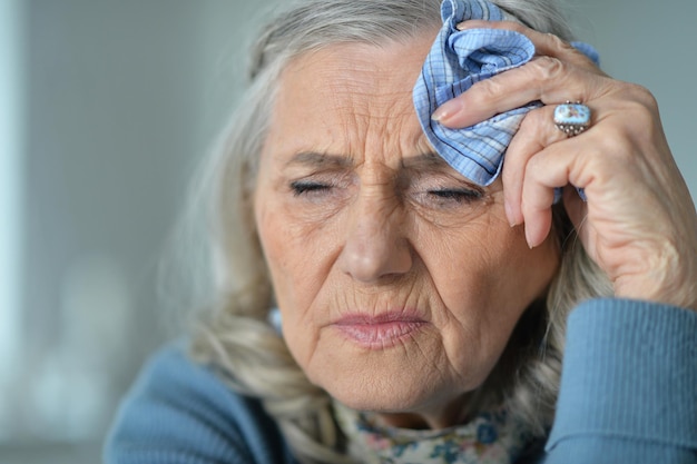
[[[431,37],[336,45],[283,73],[255,217],[308,378],[356,409],[446,423],[558,264],[433,154],[412,107]],[[442,421],[441,421],[442,419]],[[446,424],[445,424],[446,425]]]

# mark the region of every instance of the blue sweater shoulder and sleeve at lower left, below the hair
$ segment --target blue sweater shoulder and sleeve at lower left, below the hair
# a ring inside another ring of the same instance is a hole
[[[144,367],[105,445],[106,464],[292,463],[258,402],[237,395],[183,344]]]

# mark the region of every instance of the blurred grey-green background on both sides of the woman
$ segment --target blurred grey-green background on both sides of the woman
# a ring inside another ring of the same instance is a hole
[[[176,336],[158,264],[269,6],[0,0],[0,463],[100,462],[119,397]],[[654,91],[695,197],[697,2],[569,14],[607,72]]]

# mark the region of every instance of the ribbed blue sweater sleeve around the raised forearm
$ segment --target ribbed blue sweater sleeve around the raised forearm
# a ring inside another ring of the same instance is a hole
[[[546,464],[697,463],[697,313],[597,299],[569,317]]]

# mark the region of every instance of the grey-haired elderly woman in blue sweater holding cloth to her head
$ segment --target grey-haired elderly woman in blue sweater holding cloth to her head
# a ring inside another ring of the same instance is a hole
[[[697,462],[695,207],[569,40],[552,0],[274,19],[202,182],[216,303],[106,462]]]

